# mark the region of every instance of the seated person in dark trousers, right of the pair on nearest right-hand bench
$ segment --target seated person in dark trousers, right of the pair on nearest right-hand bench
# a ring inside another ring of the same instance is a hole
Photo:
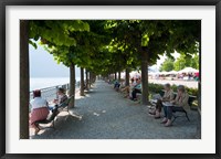
[[[171,126],[171,118],[172,118],[172,112],[178,110],[188,110],[189,104],[188,104],[189,95],[185,89],[183,85],[179,85],[177,88],[177,96],[175,100],[170,102],[172,105],[165,106],[164,105],[164,112],[165,117],[161,121],[161,124],[165,124],[166,127]]]

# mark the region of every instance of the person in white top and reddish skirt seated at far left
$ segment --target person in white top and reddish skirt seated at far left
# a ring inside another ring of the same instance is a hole
[[[33,99],[30,102],[31,115],[30,115],[30,125],[34,128],[34,134],[36,135],[40,131],[39,126],[35,121],[46,119],[49,115],[49,105],[45,99],[41,97],[41,91],[33,91]]]

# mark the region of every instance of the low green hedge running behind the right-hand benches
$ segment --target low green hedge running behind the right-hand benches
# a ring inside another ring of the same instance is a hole
[[[148,83],[148,88],[150,93],[160,93],[160,91],[164,89],[164,85]],[[171,88],[173,92],[177,92],[177,85],[171,85]],[[186,89],[189,95],[198,96],[198,88],[186,87]]]

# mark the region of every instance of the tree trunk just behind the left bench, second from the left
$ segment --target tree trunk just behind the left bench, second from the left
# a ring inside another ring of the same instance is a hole
[[[75,65],[72,64],[70,66],[70,96],[74,96],[72,97],[69,107],[73,108],[75,105]]]

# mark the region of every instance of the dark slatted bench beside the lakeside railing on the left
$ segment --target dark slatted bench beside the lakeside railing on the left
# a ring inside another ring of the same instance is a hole
[[[62,104],[60,105],[56,105],[55,107],[57,108],[57,110],[53,110],[53,113],[44,120],[38,120],[35,121],[34,124],[36,126],[39,126],[40,124],[50,124],[52,123],[52,125],[50,127],[44,127],[44,128],[54,128],[54,121],[55,121],[55,117],[61,113],[61,112],[67,112],[69,115],[70,115],[70,112],[69,112],[69,104],[72,99],[73,95],[71,97],[69,97],[66,100],[64,100]]]

